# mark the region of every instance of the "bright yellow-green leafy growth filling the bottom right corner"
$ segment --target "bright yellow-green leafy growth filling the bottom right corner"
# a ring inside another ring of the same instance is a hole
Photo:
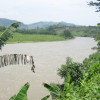
[[[84,73],[84,79],[81,80],[81,86],[77,90],[79,97],[84,100],[100,99],[100,62],[92,64],[87,73]]]

